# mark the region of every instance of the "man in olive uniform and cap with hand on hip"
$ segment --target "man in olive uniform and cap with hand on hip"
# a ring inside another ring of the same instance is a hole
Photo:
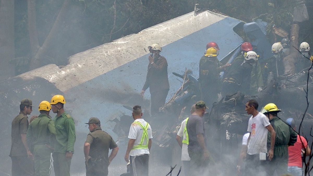
[[[90,131],[84,144],[86,176],[107,176],[108,166],[116,156],[118,147],[112,137],[101,130],[97,117],[90,117],[86,124]],[[112,149],[110,157],[109,149]]]

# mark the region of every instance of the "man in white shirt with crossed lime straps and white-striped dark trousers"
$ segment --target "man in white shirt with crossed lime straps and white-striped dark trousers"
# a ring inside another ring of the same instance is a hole
[[[128,163],[130,156],[130,172],[134,176],[147,176],[149,175],[149,154],[152,144],[151,127],[141,118],[141,106],[133,107],[132,116],[135,121],[129,130],[129,142],[124,159]]]

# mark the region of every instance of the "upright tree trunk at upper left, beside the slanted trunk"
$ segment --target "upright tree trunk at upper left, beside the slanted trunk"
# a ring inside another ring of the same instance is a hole
[[[37,35],[37,23],[36,23],[36,0],[28,0],[27,3],[28,14],[28,34],[30,41],[30,48],[32,50],[32,57],[37,53],[39,48],[38,35]]]

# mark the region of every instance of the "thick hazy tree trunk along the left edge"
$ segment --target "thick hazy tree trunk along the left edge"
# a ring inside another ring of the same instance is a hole
[[[14,1],[0,0],[0,81],[15,76],[14,65]]]

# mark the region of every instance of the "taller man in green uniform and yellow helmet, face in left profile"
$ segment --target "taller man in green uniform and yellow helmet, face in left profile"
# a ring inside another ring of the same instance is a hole
[[[64,96],[55,95],[51,98],[51,109],[57,115],[54,117],[56,142],[53,152],[55,176],[69,176],[69,167],[74,153],[75,123],[74,119],[64,111]]]

